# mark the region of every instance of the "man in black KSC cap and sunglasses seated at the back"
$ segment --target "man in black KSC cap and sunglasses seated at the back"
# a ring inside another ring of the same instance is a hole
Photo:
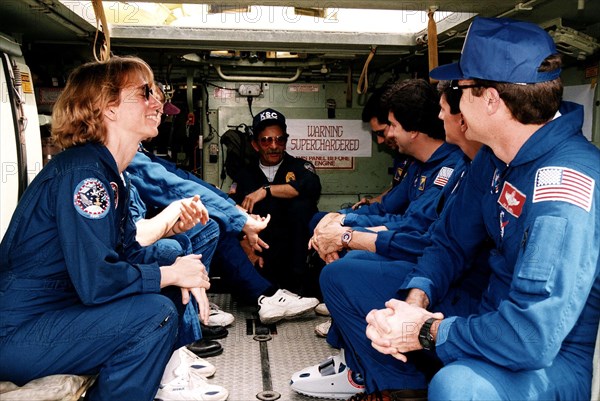
[[[303,291],[307,281],[308,222],[317,212],[321,182],[312,163],[286,153],[285,116],[273,109],[258,113],[252,123],[252,146],[258,163],[240,174],[233,198],[249,213],[271,215],[262,238],[261,272],[284,288]],[[270,306],[259,311],[268,321]]]

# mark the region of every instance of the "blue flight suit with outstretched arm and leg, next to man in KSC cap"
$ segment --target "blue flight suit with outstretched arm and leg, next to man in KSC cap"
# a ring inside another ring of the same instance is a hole
[[[200,195],[211,219],[220,229],[212,264],[218,266],[221,278],[236,295],[244,301],[256,302],[259,296],[277,290],[256,272],[240,246],[237,236],[248,215],[238,209],[227,194],[143,148],[136,153],[126,171],[146,206],[162,209],[173,201]]]

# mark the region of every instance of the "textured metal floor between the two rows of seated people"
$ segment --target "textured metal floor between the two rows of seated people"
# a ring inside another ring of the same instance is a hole
[[[294,372],[338,353],[314,332],[315,326],[328,318],[313,313],[267,327],[260,324],[257,307],[239,305],[230,294],[209,294],[209,299],[235,316],[233,324],[227,327],[229,335],[217,340],[223,353],[206,358],[217,368],[209,382],[229,390],[229,401],[316,400],[292,391],[289,381]],[[271,339],[257,341],[256,334],[259,339],[268,339],[268,335]],[[267,356],[268,363],[261,363]],[[272,392],[263,393],[265,390]]]

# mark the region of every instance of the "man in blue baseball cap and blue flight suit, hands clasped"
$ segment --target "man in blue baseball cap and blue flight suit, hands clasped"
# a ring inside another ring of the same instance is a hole
[[[485,146],[432,245],[417,264],[397,262],[406,271],[398,299],[368,313],[366,338],[349,333],[364,327],[368,306],[330,308],[345,316],[336,323],[357,356],[348,365],[365,381],[352,400],[417,399],[424,390],[431,400],[590,399],[600,151],[582,135],[582,107],[561,101],[556,53],[536,25],[476,18],[460,62],[431,71],[462,89],[466,138]],[[482,296],[452,296],[489,243]],[[430,362],[417,368],[416,359]],[[438,364],[429,381],[423,367]]]

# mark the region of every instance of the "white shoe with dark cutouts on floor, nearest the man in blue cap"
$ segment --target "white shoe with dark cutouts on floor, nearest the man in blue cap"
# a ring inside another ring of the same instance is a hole
[[[365,391],[362,376],[352,372],[346,365],[343,349],[339,355],[294,373],[290,386],[292,390],[309,397],[336,400],[346,400]]]

